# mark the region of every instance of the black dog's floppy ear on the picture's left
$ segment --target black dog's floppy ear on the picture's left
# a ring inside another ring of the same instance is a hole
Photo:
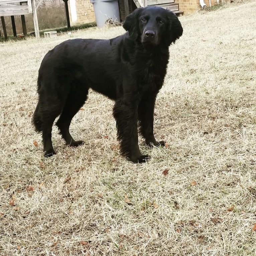
[[[123,23],[123,28],[128,31],[129,36],[134,40],[138,37],[138,17],[143,8],[135,9],[131,14],[126,16],[125,21]]]

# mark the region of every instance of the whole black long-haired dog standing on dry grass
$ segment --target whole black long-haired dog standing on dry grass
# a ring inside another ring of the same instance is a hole
[[[182,35],[182,26],[173,12],[150,6],[128,15],[123,27],[128,32],[116,38],[67,40],[44,56],[33,123],[42,132],[45,156],[55,154],[51,130],[58,115],[56,125],[67,145],[83,144],[72,138],[69,127],[89,88],[115,101],[117,138],[130,161],[148,158],[138,146],[138,127],[147,145],[164,145],[153,135],[155,99],[166,74],[168,47]]]

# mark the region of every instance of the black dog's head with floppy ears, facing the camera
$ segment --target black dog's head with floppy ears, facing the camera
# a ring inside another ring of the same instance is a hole
[[[133,40],[139,38],[142,44],[153,46],[163,41],[169,46],[183,32],[177,16],[157,6],[136,9],[126,17],[123,27]]]

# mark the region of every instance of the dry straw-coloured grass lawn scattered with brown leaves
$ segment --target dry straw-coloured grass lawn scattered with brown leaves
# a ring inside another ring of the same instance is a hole
[[[141,146],[145,164],[119,155],[113,103],[94,92],[71,126],[86,144],[54,129],[58,153],[43,159],[37,71],[68,36],[0,45],[1,256],[256,255],[256,3],[180,20],[155,110],[168,147]]]

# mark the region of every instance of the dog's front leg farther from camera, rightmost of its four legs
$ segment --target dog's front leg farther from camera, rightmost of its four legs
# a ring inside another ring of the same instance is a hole
[[[154,107],[156,95],[147,95],[142,98],[138,107],[139,133],[145,138],[145,144],[153,146],[164,146],[164,141],[156,141],[153,134]]]

